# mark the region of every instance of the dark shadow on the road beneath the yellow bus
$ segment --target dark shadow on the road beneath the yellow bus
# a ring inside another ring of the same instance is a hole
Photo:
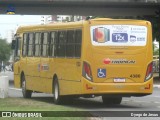
[[[78,108],[78,109],[85,109],[85,110],[97,110],[97,109],[117,109],[117,108],[121,108],[121,109],[125,109],[125,108],[142,108],[142,106],[132,106],[132,105],[127,105],[125,103],[120,104],[120,105],[104,105],[102,103],[101,100],[97,100],[100,97],[97,98],[92,98],[92,99],[84,99],[84,98],[77,98],[77,99],[73,99],[70,102],[64,103],[63,106],[66,107],[73,107],[73,108]],[[41,102],[46,102],[49,104],[54,104],[53,102],[53,97],[32,97],[32,100],[35,101],[41,101]]]

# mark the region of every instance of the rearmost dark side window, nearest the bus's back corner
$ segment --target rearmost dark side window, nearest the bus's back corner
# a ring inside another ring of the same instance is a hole
[[[82,30],[76,30],[75,34],[76,43],[75,43],[75,57],[81,57],[81,45],[82,45]]]

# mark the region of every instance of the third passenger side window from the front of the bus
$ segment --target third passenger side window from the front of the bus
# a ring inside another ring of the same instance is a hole
[[[38,57],[40,51],[40,33],[35,33],[34,56]]]

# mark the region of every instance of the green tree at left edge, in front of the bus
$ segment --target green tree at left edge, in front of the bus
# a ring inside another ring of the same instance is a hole
[[[8,61],[11,55],[11,44],[0,38],[0,61]]]

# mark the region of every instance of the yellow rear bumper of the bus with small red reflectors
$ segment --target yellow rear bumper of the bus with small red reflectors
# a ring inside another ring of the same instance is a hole
[[[83,94],[144,96],[153,92],[153,78],[144,83],[93,83],[83,78]]]

